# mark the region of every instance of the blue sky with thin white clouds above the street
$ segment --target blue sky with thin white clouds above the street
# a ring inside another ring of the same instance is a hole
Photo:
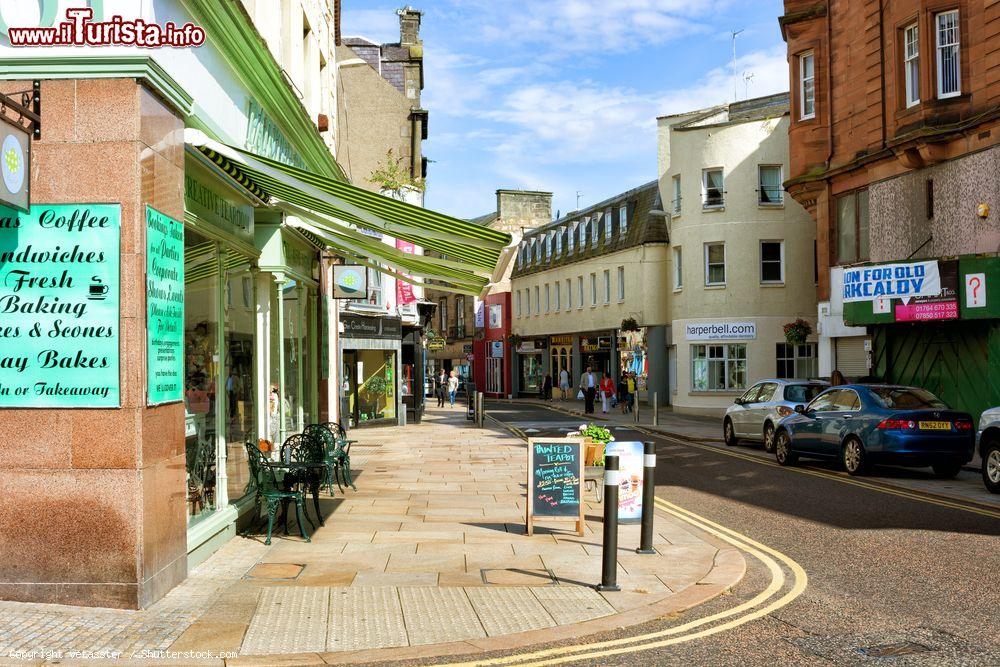
[[[461,218],[499,188],[552,192],[563,215],[577,193],[596,204],[657,178],[657,116],[788,90],[778,0],[410,1],[425,205]],[[396,42],[400,6],[343,0],[343,34]]]

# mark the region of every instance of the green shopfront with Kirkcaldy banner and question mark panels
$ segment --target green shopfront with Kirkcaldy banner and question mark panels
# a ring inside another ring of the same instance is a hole
[[[844,290],[845,324],[872,335],[874,378],[924,387],[976,420],[1000,405],[1000,256],[846,267],[844,276],[833,289]],[[907,296],[903,281],[933,293]]]

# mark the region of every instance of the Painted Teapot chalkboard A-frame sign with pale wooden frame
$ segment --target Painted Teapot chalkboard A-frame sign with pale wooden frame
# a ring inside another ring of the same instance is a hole
[[[528,535],[536,519],[572,520],[583,535],[583,440],[528,440]]]

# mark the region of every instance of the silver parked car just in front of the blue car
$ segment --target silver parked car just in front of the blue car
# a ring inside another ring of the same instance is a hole
[[[827,387],[822,380],[761,380],[736,399],[722,421],[726,444],[740,440],[764,443],[764,451],[774,451],[774,427]]]

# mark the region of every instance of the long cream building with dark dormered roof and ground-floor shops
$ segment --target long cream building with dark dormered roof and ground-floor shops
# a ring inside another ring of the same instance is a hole
[[[512,394],[546,375],[574,387],[587,367],[636,373],[639,399],[665,403],[668,237],[656,182],[525,233],[511,275]],[[634,329],[634,330],[633,330]]]

